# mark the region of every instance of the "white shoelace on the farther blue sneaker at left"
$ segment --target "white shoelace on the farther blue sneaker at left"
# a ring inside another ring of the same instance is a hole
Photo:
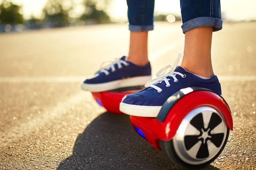
[[[109,64],[106,64],[106,63],[109,63]],[[115,64],[117,64],[117,67],[119,69],[122,68],[122,65],[121,63],[123,63],[125,66],[128,66],[129,63],[124,61],[124,60],[121,60],[120,58],[115,58],[114,60],[110,60],[110,61],[106,61],[106,62],[103,62],[101,64],[101,68],[100,68],[100,71],[105,73],[106,75],[109,75],[109,71],[107,71],[108,68],[111,68],[111,71],[114,72],[116,71],[116,68],[115,68]]]

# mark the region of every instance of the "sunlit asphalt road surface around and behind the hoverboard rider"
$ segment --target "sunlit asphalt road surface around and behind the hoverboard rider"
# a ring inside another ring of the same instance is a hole
[[[153,75],[183,51],[181,22],[149,33]],[[0,34],[0,170],[168,170],[127,115],[108,113],[80,83],[128,52],[126,24]],[[224,23],[212,60],[234,121],[227,145],[203,170],[256,169],[256,22]]]

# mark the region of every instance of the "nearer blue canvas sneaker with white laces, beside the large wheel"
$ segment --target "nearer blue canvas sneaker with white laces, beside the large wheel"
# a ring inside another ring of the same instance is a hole
[[[182,53],[179,55],[183,56]],[[182,66],[177,66],[177,63],[176,60],[175,64],[162,68],[157,73],[157,78],[150,80],[144,90],[124,96],[120,103],[120,111],[134,116],[157,117],[168,97],[187,87],[207,88],[221,95],[220,83],[216,75],[202,79],[186,71]],[[171,70],[165,73],[168,69]]]

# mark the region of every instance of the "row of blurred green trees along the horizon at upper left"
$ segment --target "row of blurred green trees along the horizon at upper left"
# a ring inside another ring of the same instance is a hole
[[[4,0],[0,4],[0,25],[25,24],[27,29],[76,26],[110,22],[105,12],[110,0],[48,0],[41,18],[24,20],[22,7]]]

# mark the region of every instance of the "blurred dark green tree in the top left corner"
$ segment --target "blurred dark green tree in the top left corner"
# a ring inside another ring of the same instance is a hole
[[[23,24],[20,8],[20,6],[4,0],[0,4],[0,24]]]

